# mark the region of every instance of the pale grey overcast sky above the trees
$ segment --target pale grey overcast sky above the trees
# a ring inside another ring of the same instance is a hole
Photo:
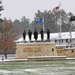
[[[61,3],[61,9],[75,14],[75,0],[2,0],[2,2],[4,10],[1,11],[1,17],[10,18],[13,21],[20,20],[23,16],[32,21],[38,9],[49,11],[59,3]]]

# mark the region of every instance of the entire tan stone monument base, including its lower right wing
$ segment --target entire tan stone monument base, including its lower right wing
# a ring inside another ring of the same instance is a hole
[[[16,59],[63,60],[75,58],[75,48],[56,46],[53,42],[17,43]]]

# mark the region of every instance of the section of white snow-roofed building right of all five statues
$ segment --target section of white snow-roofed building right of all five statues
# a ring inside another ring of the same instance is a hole
[[[66,47],[75,46],[75,32],[51,33],[51,42],[57,45],[66,45]]]

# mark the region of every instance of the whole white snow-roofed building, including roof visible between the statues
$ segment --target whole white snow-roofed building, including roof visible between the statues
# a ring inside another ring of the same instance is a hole
[[[40,34],[38,35],[38,41],[41,41]],[[44,41],[47,40],[47,34],[44,34]],[[23,37],[16,40],[16,42],[23,42]],[[29,41],[28,35],[26,35],[26,41]],[[32,35],[32,41],[35,41]],[[66,45],[66,47],[75,46],[75,32],[62,32],[62,33],[50,33],[50,42],[55,42],[56,45]]]

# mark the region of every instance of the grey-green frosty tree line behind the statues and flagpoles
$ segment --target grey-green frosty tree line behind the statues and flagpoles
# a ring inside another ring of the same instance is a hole
[[[71,16],[73,16],[73,14],[71,12],[66,13],[63,9],[57,13],[52,13],[51,11],[47,10],[41,12],[40,10],[38,10],[37,13],[35,13],[35,17],[32,22],[30,22],[30,19],[23,16],[21,21],[17,19],[13,21],[13,25],[19,30],[19,37],[21,37],[23,30],[28,32],[28,30],[31,29],[32,32],[34,32],[34,30],[37,29],[37,31],[39,32],[40,29],[43,28],[43,23],[36,24],[36,19],[44,17],[44,33],[46,32],[47,28],[50,29],[51,33],[55,33],[60,31],[60,14],[62,32],[70,31],[71,22],[69,21],[69,19]],[[74,31],[74,27],[72,28],[72,31]]]

